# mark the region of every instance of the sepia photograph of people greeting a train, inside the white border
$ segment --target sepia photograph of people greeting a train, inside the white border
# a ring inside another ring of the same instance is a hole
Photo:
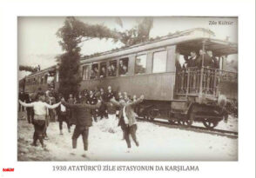
[[[238,16],[18,16],[17,161],[238,161]]]

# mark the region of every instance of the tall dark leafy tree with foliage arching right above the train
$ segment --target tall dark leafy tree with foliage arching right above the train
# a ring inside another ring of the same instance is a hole
[[[117,19],[117,23],[123,26],[121,18]],[[130,46],[137,43],[142,43],[149,40],[150,30],[152,30],[152,17],[143,18],[138,26],[125,32],[110,30],[104,25],[87,24],[78,21],[75,17],[67,17],[64,21],[64,26],[57,30],[57,36],[61,38],[59,44],[64,50],[64,54],[57,56],[59,61],[59,92],[68,96],[69,94],[77,94],[80,82],[82,80],[80,66],[80,48],[79,43],[82,43],[92,38],[111,38],[113,42],[121,41],[125,46]]]

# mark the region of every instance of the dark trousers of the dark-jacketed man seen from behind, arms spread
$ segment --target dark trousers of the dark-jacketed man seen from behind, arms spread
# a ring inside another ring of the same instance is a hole
[[[88,150],[88,135],[89,135],[89,127],[86,126],[76,126],[74,133],[72,135],[72,146],[73,148],[77,148],[77,138],[82,135],[84,142],[84,150]]]

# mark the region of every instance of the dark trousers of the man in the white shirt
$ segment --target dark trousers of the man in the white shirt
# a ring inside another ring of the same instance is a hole
[[[33,145],[37,145],[37,140],[39,139],[39,142],[41,143],[42,147],[44,147],[44,126],[45,121],[44,120],[34,120],[34,128],[35,132],[33,135]]]

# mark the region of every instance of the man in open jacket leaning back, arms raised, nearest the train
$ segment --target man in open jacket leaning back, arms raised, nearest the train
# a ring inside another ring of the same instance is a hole
[[[129,135],[135,142],[136,146],[139,146],[138,139],[136,136],[137,130],[137,121],[136,121],[136,114],[134,113],[134,107],[137,106],[140,102],[143,102],[144,96],[140,96],[136,102],[127,102],[125,103],[124,99],[121,99],[117,102],[115,99],[111,99],[111,102],[120,107],[119,113],[119,122],[118,126],[121,126],[125,132],[125,141],[127,143],[127,152],[129,153],[131,150],[131,141]]]

